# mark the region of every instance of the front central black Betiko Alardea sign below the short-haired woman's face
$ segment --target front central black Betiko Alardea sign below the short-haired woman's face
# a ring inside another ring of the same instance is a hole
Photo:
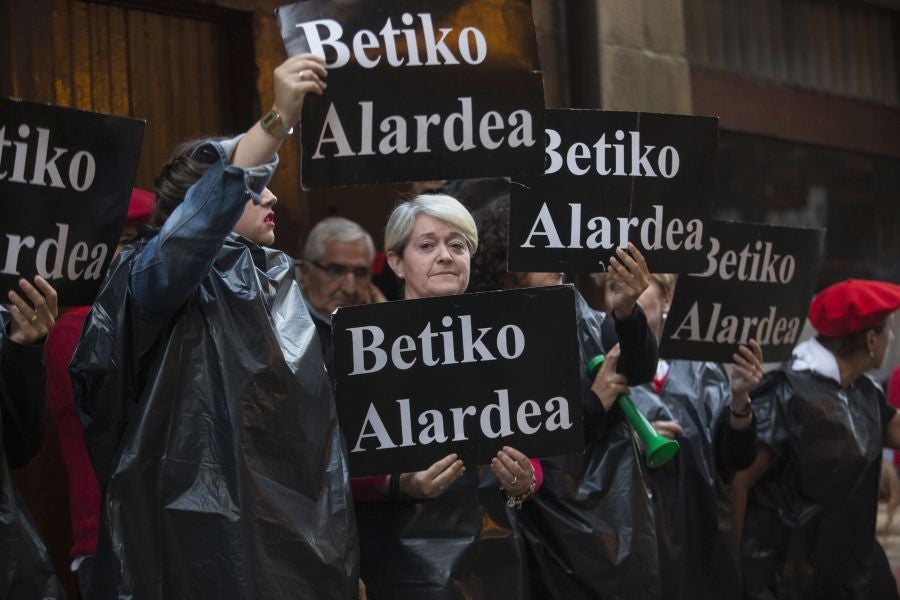
[[[341,308],[332,324],[354,477],[583,451],[571,287]]]

